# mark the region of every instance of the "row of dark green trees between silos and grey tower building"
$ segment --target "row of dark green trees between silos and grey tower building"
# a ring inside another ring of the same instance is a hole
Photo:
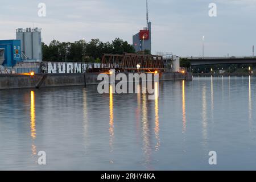
[[[42,43],[43,61],[100,63],[104,53],[123,54],[124,52],[135,53],[135,49],[133,45],[119,38],[105,43],[99,39],[92,39],[89,43],[85,40],[74,43],[52,40],[49,45]]]

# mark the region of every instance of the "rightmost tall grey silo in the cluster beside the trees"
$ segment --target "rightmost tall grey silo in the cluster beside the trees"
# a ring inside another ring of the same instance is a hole
[[[41,30],[39,28],[34,28],[32,30],[32,47],[33,59],[36,59],[36,61],[42,61],[42,40]]]

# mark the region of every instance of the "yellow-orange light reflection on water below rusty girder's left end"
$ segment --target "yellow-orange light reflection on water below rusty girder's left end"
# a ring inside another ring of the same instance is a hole
[[[113,85],[109,86],[109,146],[110,152],[113,152],[114,140],[114,115],[113,115]]]

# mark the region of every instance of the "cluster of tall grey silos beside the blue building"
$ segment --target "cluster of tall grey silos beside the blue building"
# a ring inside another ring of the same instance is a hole
[[[42,39],[39,28],[18,28],[16,39],[20,40],[23,60],[42,61]]]

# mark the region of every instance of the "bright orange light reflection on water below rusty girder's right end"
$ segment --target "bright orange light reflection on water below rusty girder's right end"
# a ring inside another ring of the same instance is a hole
[[[160,137],[159,137],[159,104],[158,104],[158,96],[159,96],[159,82],[155,82],[155,139],[156,146],[155,150],[158,151],[160,147]]]

